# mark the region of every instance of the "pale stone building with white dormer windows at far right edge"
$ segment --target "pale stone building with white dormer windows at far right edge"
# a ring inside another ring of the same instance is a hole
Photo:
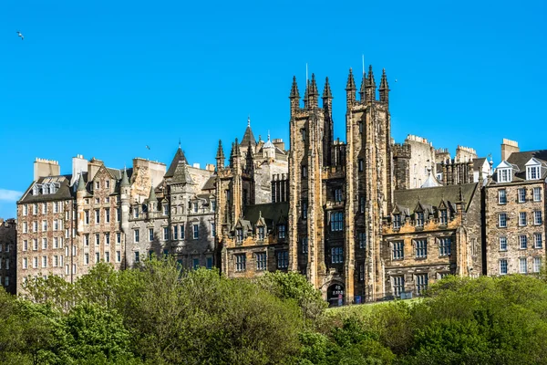
[[[537,273],[545,261],[547,150],[503,140],[503,161],[485,187],[485,274]]]

